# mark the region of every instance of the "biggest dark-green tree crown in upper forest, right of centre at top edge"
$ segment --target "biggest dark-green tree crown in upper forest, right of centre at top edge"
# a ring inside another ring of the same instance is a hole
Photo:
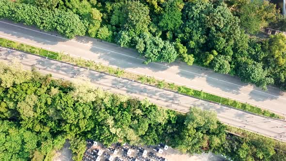
[[[241,45],[236,43],[241,37],[238,18],[232,15],[223,1],[187,2],[182,12],[184,24],[176,33],[182,44],[200,60],[199,63],[204,62],[205,65],[214,59],[208,54],[211,50],[217,51],[218,55],[226,56],[229,60],[217,65],[217,68],[224,65],[226,70],[223,73],[228,72],[228,62],[231,61],[233,50],[239,50],[236,46]],[[206,52],[206,56],[202,57],[202,53]]]

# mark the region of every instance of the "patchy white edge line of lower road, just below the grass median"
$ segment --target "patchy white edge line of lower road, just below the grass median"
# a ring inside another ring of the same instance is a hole
[[[0,35],[0,36],[1,36],[1,35]],[[16,50],[13,50],[13,51],[18,52],[18,53],[21,53],[21,54],[30,55],[30,56],[32,56],[32,57],[36,57],[37,59],[42,59],[41,57],[39,57],[39,56],[37,56],[37,55],[27,54],[27,53],[20,52],[20,51],[16,51]],[[71,67],[77,66],[77,65],[62,63],[62,62],[59,62],[59,61],[56,61],[56,60],[48,60],[48,61],[54,62],[54,63],[57,63],[57,64],[63,64],[63,65],[71,66]],[[77,66],[77,67],[82,68],[82,67],[80,67],[80,66]],[[101,74],[101,73],[98,73],[97,71],[94,71],[94,70],[90,70],[90,71],[91,71],[91,72],[94,72],[94,73],[97,73],[97,74],[99,74],[99,75],[104,75],[103,73]],[[124,80],[123,78],[117,78],[117,77],[115,77],[115,76],[110,76],[110,75],[108,75],[108,76],[111,77],[111,78],[115,78],[115,79],[119,79],[119,80]],[[137,83],[137,82],[135,82],[135,83]],[[137,83],[137,84],[142,85],[141,83]],[[148,87],[149,85],[143,84],[143,86]],[[154,88],[154,89],[156,89],[156,88]],[[136,90],[136,89],[133,89],[133,90]],[[180,96],[183,96],[183,97],[188,97],[188,96],[181,95],[181,94],[177,94],[177,95],[180,95]],[[191,98],[192,98],[192,97],[191,97]],[[198,99],[198,98],[192,98],[192,99],[194,99],[194,100],[199,100],[199,101],[203,101],[203,100],[200,100],[200,99]],[[216,105],[218,105],[218,104],[216,104]],[[223,105],[219,105],[219,106],[220,106],[220,107],[223,107]],[[232,110],[236,110],[236,111],[241,112],[240,110],[235,109],[235,108],[232,108]],[[246,112],[243,112],[243,113],[246,113]],[[261,118],[261,119],[265,119],[265,118],[266,118],[266,117],[258,116],[258,115],[252,114],[252,113],[247,113],[247,114],[252,115],[252,116],[254,116],[254,117]],[[282,123],[279,123],[279,122],[276,122],[276,121],[273,121],[273,120],[270,120],[270,119],[267,119],[267,120],[269,120],[270,122],[274,122],[274,123],[277,123],[277,124],[284,125],[284,124],[282,124]]]

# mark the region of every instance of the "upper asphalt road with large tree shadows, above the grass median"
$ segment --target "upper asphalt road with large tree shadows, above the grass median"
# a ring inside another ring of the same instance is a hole
[[[154,76],[218,96],[247,102],[286,116],[285,92],[274,87],[263,91],[241,82],[236,77],[214,73],[203,67],[188,66],[182,62],[146,65],[143,64],[144,59],[133,49],[120,48],[117,45],[85,36],[69,40],[60,37],[56,32],[42,32],[37,28],[7,20],[0,20],[0,37],[52,51],[62,51],[71,56],[120,67],[129,72]]]

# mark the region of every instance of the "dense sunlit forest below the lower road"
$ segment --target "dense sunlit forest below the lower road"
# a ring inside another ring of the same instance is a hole
[[[225,132],[213,111],[187,114],[0,62],[0,160],[50,161],[69,139],[81,161],[86,139],[111,145],[166,143],[181,152],[211,151],[235,161],[285,161],[286,145]],[[282,150],[279,150],[282,149]]]

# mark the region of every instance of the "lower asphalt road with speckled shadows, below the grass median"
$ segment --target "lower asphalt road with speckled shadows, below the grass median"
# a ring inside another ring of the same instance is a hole
[[[19,62],[23,64],[23,68],[27,70],[30,70],[31,66],[35,66],[38,71],[43,74],[50,73],[55,78],[74,82],[90,82],[91,85],[112,93],[129,95],[138,97],[139,99],[148,98],[151,102],[161,107],[182,113],[187,113],[190,107],[214,110],[217,112],[219,120],[225,124],[286,142],[286,121],[258,116],[238,109],[232,109],[219,104],[180,95],[172,91],[162,90],[140,82],[120,79],[75,65],[48,60],[43,57],[5,48],[0,51],[0,61],[6,64]]]

